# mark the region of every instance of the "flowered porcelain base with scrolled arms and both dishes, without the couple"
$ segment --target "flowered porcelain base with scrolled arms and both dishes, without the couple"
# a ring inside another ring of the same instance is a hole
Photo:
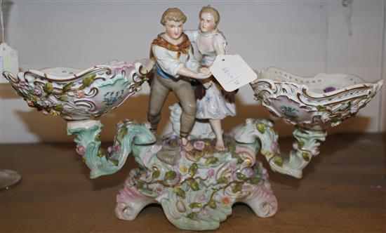
[[[258,73],[251,88],[269,112],[295,126],[296,141],[289,157],[281,154],[279,135],[271,121],[246,119],[239,131],[224,138],[225,151],[213,146],[208,124],[196,124],[189,137],[194,149],[176,152],[178,162],[171,165],[156,154],[168,145],[179,145],[177,135],[157,140],[138,121],[121,121],[114,144],[108,149],[100,147],[99,117],[140,91],[152,68],[149,64],[142,60],[85,70],[56,67],[18,76],[4,72],[3,76],[30,107],[67,121],[67,132],[76,135],[76,152],[91,169],[91,178],[119,171],[133,154],[138,168],[130,172],[117,195],[117,218],[134,220],[146,205],[158,203],[180,229],[216,229],[236,202],[248,204],[260,217],[274,215],[277,199],[267,170],[256,157],[258,152],[273,171],[301,178],[302,169],[319,154],[326,129],[357,114],[382,86],[382,81],[369,84],[353,75],[304,78],[269,67]],[[179,106],[171,107],[174,134],[179,117]]]

